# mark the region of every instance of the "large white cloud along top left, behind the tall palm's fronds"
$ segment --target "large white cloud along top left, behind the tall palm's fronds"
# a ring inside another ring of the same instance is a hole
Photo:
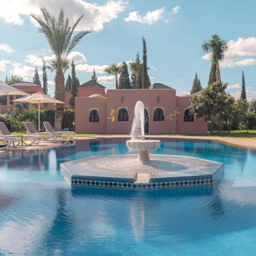
[[[105,5],[97,5],[84,2],[83,0],[54,0],[43,1],[43,6],[53,15],[58,15],[60,7],[65,10],[66,17],[69,17],[70,24],[84,14],[76,30],[94,30],[103,29],[104,23],[110,22],[118,17],[118,14],[124,11],[127,3],[121,0],[108,1]],[[21,15],[29,15],[31,12],[41,14],[39,8],[42,1],[35,0],[2,0],[0,9],[0,18],[5,22],[22,26],[24,20]],[[35,20],[31,21],[36,24]]]

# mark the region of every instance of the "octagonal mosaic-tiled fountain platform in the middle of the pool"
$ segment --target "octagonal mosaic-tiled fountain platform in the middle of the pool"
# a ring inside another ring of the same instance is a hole
[[[71,187],[163,189],[213,186],[224,168],[206,159],[150,154],[149,162],[137,155],[92,156],[60,164]]]

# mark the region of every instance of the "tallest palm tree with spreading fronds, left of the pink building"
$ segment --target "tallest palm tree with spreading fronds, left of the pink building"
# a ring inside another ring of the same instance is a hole
[[[45,8],[41,8],[42,17],[30,14],[39,24],[39,32],[43,33],[55,55],[55,59],[50,61],[50,65],[55,70],[55,98],[65,101],[65,79],[64,73],[69,67],[68,55],[79,41],[90,31],[80,31],[73,35],[78,22],[83,15],[78,18],[72,27],[68,24],[68,18],[64,18],[64,11],[61,9],[59,17],[55,18]],[[61,131],[64,106],[57,104],[55,111],[54,129]]]

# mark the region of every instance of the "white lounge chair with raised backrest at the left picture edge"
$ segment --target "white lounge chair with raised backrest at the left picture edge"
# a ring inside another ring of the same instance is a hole
[[[22,143],[26,146],[30,146],[35,144],[38,144],[42,140],[41,135],[12,135],[10,131],[7,129],[6,125],[3,122],[0,122],[0,136],[1,137],[9,137],[9,138],[18,138],[22,140]]]

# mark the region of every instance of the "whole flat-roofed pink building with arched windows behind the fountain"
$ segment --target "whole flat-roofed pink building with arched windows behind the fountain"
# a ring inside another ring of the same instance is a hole
[[[77,133],[130,133],[137,101],[145,105],[145,132],[149,134],[207,133],[204,118],[194,119],[189,114],[191,95],[177,96],[176,90],[163,84],[149,89],[108,90],[89,81],[75,99],[75,130]],[[90,94],[90,95],[89,95]],[[178,108],[179,115],[167,116]],[[116,110],[115,122],[108,118]]]

